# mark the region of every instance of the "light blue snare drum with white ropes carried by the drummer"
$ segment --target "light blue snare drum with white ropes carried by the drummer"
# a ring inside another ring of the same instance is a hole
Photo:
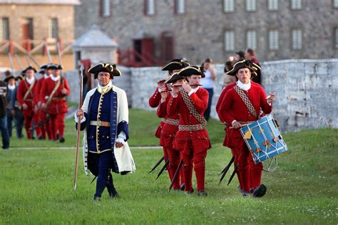
[[[240,133],[255,164],[287,151],[287,144],[284,142],[272,115],[266,115],[250,125],[245,125],[240,129]]]

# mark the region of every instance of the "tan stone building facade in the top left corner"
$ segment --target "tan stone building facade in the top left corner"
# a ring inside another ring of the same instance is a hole
[[[11,39],[26,48],[41,41],[74,39],[74,5],[78,0],[0,0],[0,42]],[[42,52],[42,51],[41,51]]]

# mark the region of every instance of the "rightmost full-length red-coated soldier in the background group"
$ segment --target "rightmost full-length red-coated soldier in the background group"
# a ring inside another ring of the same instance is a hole
[[[68,112],[66,96],[71,93],[66,78],[61,78],[62,66],[51,66],[52,75],[43,80],[40,93],[41,108],[49,114],[51,139],[57,140],[58,132],[59,141],[65,142],[63,137],[65,127],[65,115]]]

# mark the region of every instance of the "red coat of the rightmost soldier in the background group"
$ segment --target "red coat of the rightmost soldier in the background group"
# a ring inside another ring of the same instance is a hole
[[[66,95],[69,95],[71,93],[71,90],[69,89],[68,82],[65,78],[63,78],[63,81],[63,86],[66,89]],[[51,92],[55,88],[57,82],[58,81],[53,81],[51,78],[46,78],[45,80],[43,80],[40,93],[41,103],[47,102],[48,97],[49,95],[51,95]],[[61,84],[58,86],[58,90],[56,90],[56,93],[53,95],[50,105],[48,105],[46,109],[49,114],[56,115],[59,113],[68,112],[68,104],[64,99],[65,95],[61,93],[63,86],[61,81]]]

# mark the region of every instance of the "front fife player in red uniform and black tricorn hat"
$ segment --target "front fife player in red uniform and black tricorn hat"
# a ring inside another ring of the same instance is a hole
[[[208,91],[200,87],[200,79],[205,75],[198,66],[188,66],[179,73],[186,77],[182,87],[173,85],[168,102],[168,115],[180,114],[180,125],[173,147],[183,154],[185,193],[193,193],[193,169],[197,180],[199,196],[205,192],[205,157],[211,148],[206,121],[203,113],[208,108]]]

